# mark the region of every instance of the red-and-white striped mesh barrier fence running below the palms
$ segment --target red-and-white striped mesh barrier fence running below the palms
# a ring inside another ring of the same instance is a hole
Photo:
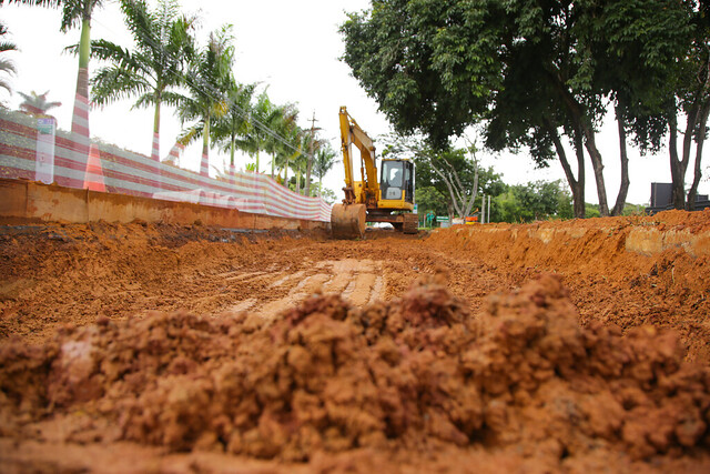
[[[51,118],[37,119],[0,110],[0,178],[54,182],[90,189],[191,202],[242,212],[329,222],[331,205],[277,184],[270,177],[227,170],[225,179],[183,170],[174,162],[183,152],[173,147],[163,162],[115,145],[85,142],[83,133],[55,130]]]

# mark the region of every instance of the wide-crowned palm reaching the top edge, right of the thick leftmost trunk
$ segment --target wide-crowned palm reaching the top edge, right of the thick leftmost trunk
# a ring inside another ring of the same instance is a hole
[[[182,83],[184,52],[193,48],[190,29],[195,19],[179,17],[178,0],[161,0],[155,11],[149,11],[144,0],[121,0],[121,11],[133,33],[134,49],[106,40],[91,42],[92,54],[111,63],[92,78],[92,100],[106,104],[138,95],[133,108],[154,107],[151,158],[160,161],[161,104],[179,102],[180,94],[169,89]]]

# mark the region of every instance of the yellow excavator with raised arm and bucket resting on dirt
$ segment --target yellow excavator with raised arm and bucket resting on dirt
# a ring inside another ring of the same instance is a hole
[[[416,233],[418,219],[414,210],[414,163],[412,160],[382,159],[377,181],[375,145],[355,119],[341,107],[341,142],[345,165],[345,199],[335,204],[331,229],[336,239],[357,239],[365,234],[367,222],[389,222],[404,233]],[[353,147],[361,153],[361,181],[353,174]]]

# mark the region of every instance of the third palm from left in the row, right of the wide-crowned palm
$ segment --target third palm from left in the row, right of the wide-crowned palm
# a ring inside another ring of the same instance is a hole
[[[189,57],[190,65],[185,87],[190,95],[181,95],[178,114],[183,125],[196,120],[184,130],[181,142],[187,144],[202,137],[200,174],[207,177],[210,168],[210,127],[213,118],[223,117],[227,110],[227,92],[234,78],[234,46],[232,26],[227,24],[210,33],[207,46]]]

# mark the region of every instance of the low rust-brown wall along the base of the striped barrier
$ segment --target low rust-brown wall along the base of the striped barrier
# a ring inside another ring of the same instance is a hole
[[[0,220],[128,223],[134,220],[170,224],[219,225],[232,229],[327,229],[328,223],[276,218],[186,202],[63,188],[0,179]]]

